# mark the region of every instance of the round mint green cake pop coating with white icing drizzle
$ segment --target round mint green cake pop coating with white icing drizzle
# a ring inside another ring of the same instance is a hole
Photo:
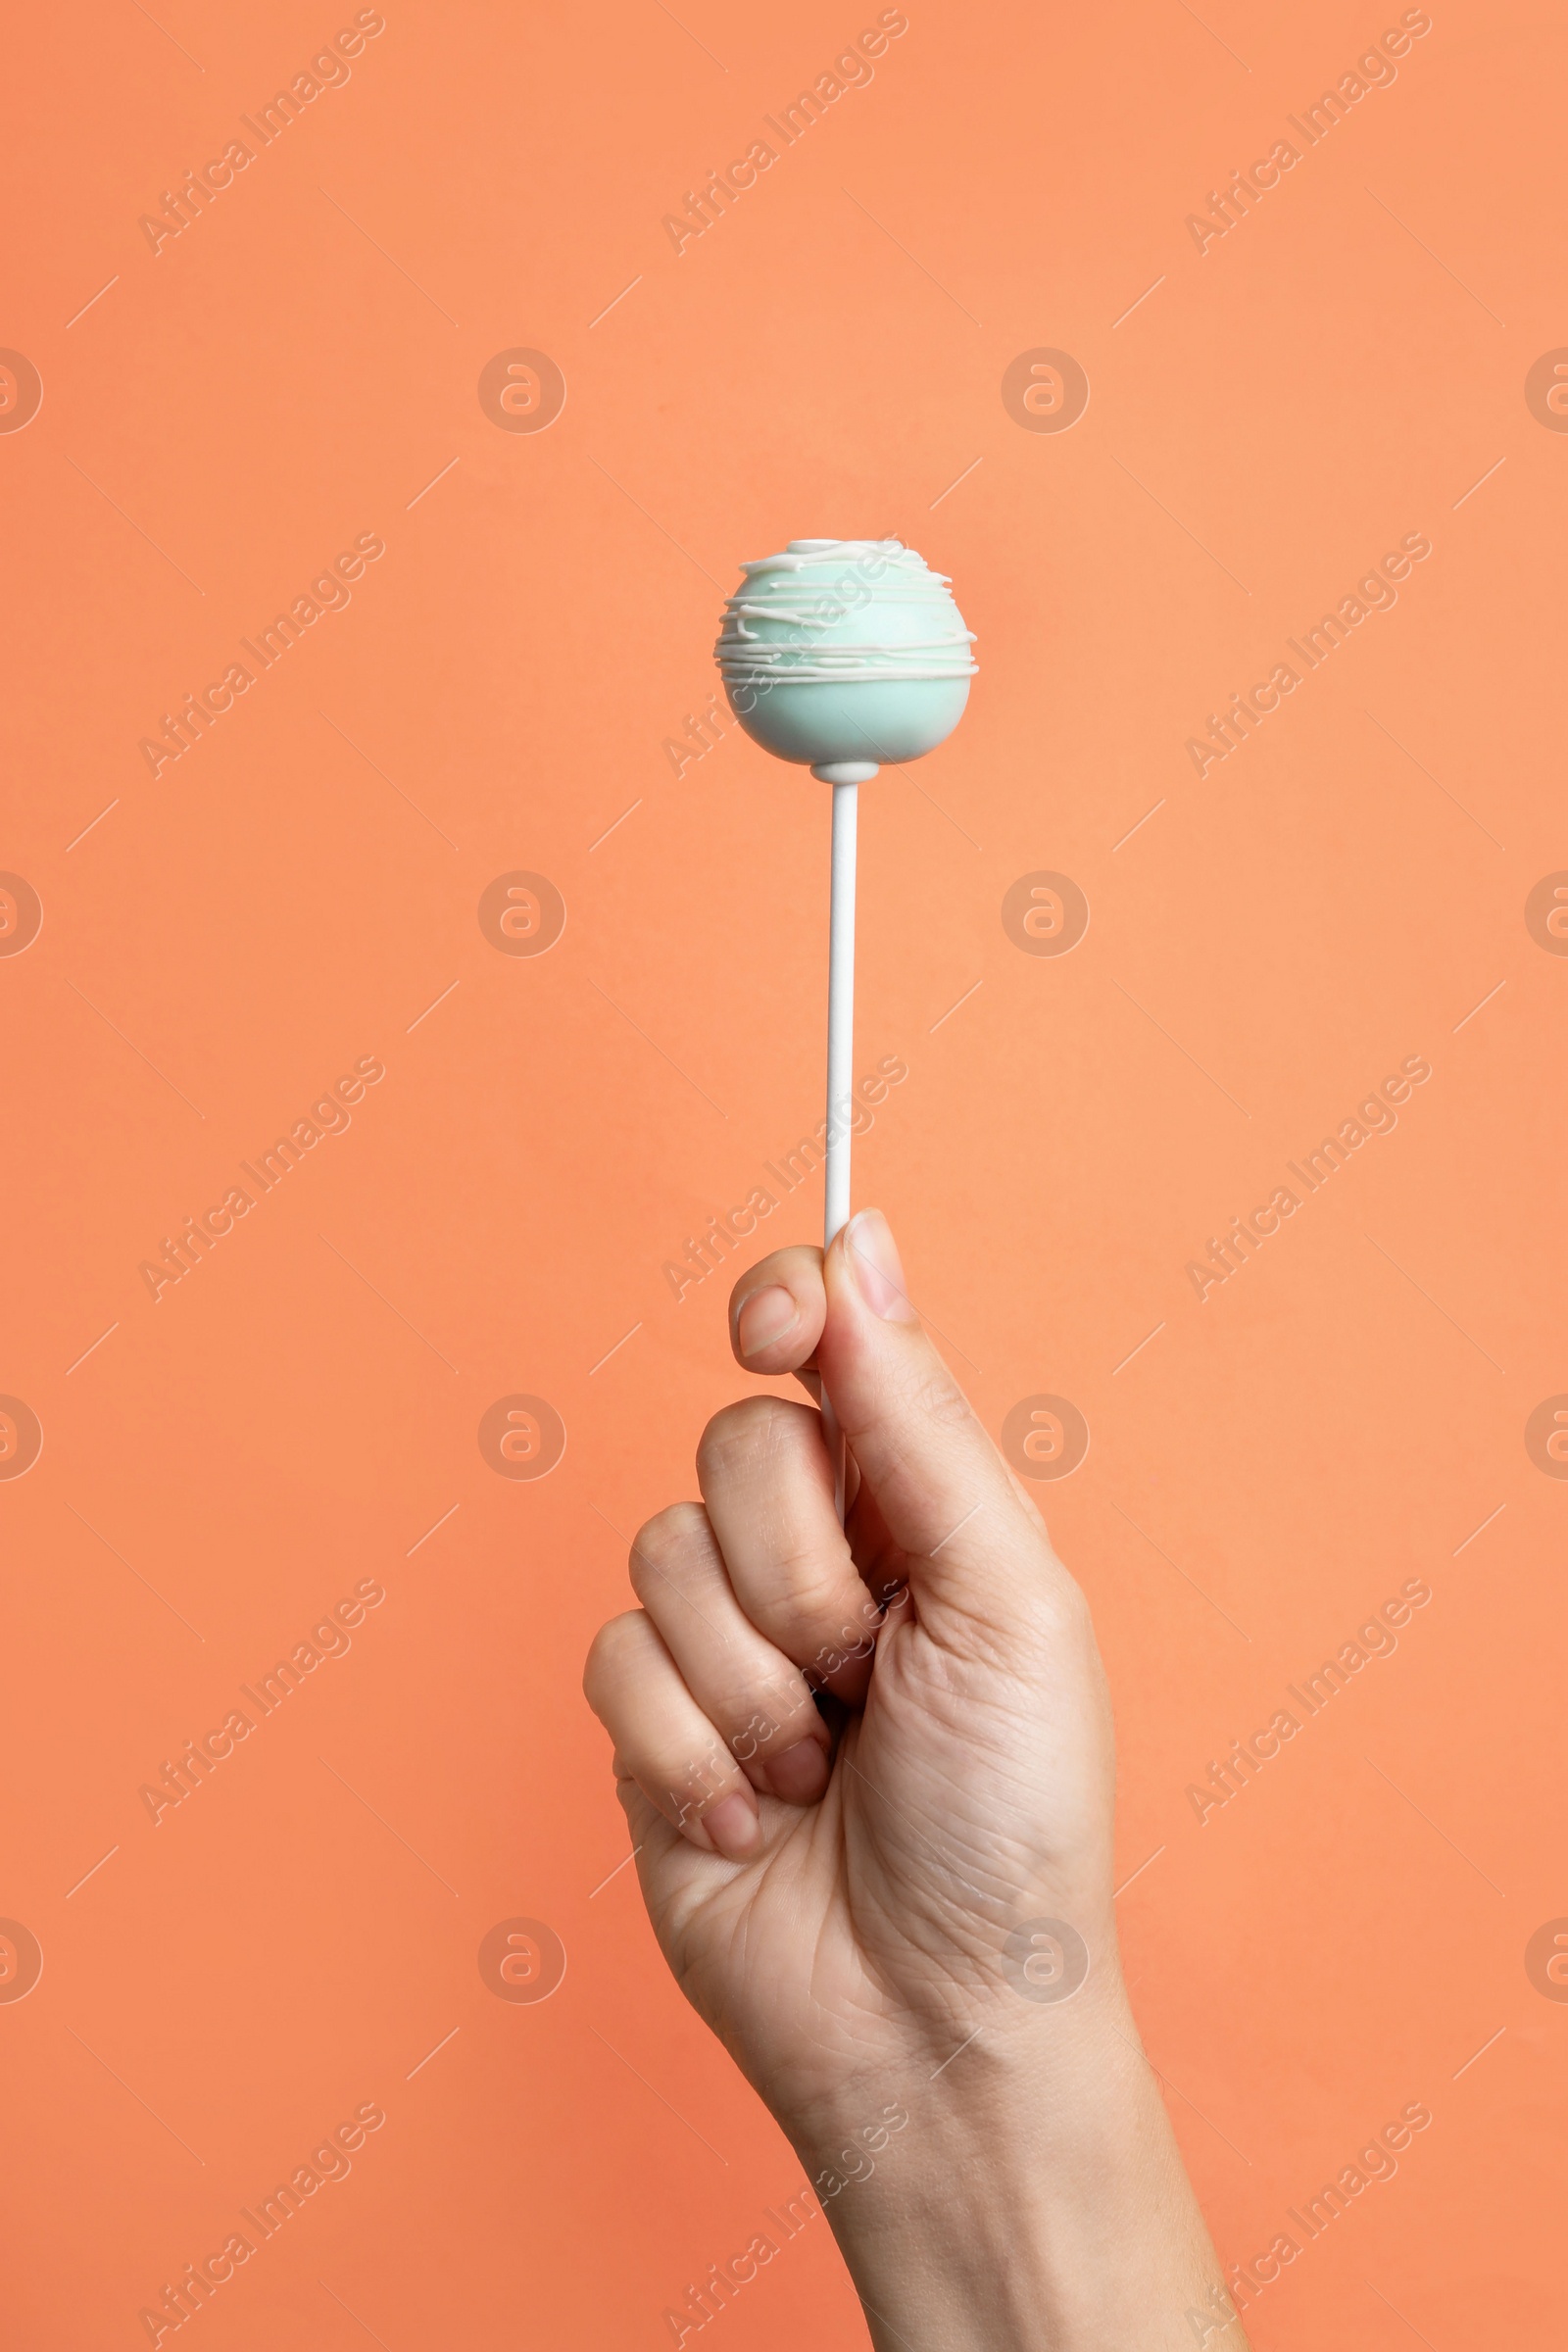
[[[973,630],[898,539],[792,539],[743,564],[715,647],[729,706],[778,760],[900,762],[964,715]]]

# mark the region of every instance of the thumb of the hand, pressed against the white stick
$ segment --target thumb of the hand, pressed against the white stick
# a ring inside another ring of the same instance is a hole
[[[842,1228],[823,1279],[823,1388],[917,1606],[1016,1625],[1041,1583],[1065,1585],[1067,1571],[922,1327],[879,1209]]]

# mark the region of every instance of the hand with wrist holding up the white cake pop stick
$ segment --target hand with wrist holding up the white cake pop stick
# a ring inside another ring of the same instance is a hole
[[[825,1385],[858,1479],[839,1529],[820,1416],[726,1406],[592,1644],[665,1959],[889,2352],[1246,2352],[1121,1987],[1084,1595],[877,1211],[752,1268],[731,1338]]]

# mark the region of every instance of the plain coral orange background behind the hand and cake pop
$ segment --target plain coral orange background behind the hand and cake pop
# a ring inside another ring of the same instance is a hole
[[[1526,1969],[1568,1912],[1568,1486],[1526,1449],[1568,1388],[1568,962],[1526,924],[1568,866],[1568,440],[1526,400],[1568,341],[1561,12],[1439,0],[1248,219],[1201,254],[1185,226],[1399,14],[912,0],[679,254],[663,216],[877,9],[388,0],[158,252],[160,191],[353,9],[16,24],[16,2345],[146,2343],[362,2105],[386,2124],[219,2288],[207,2352],[651,2347],[799,2187],[611,1877],[578,1670],[738,1385],[729,1275],[677,1301],[663,1265],[820,1117],[827,795],[733,729],[679,776],[665,743],[741,557],[882,532],[952,574],[980,677],[863,793],[856,1065],[910,1077],[856,1197],[992,1430],[1037,1392],[1088,1423],[1039,1494],[1100,1625],[1128,1973],[1225,2260],[1432,2110],[1253,2340],[1563,2328],[1568,2009]],[[564,376],[548,430],[480,400],[517,348]],[[1037,348],[1088,376],[1070,430],[1001,397]],[[1413,532],[1396,607],[1199,776],[1206,713]],[[362,534],[353,602],[153,776],[162,713]],[[480,924],[520,870],[567,908],[541,955]],[[1037,870],[1091,908],[1060,957],[1001,922]],[[1199,1303],[1187,1261],[1406,1056],[1432,1077],[1396,1131]],[[153,1301],[162,1237],[360,1058],[353,1124]],[[802,1185],[762,1240],[818,1216]],[[559,1414],[548,1477],[480,1449],[515,1395]],[[1208,1759],[1408,1578],[1399,1651],[1199,1823]],[[153,1820],[141,1788],[360,1583],[353,1649]],[[550,1999],[482,1973],[510,1919],[562,1940]],[[722,2331],[865,2343],[820,2218]]]

